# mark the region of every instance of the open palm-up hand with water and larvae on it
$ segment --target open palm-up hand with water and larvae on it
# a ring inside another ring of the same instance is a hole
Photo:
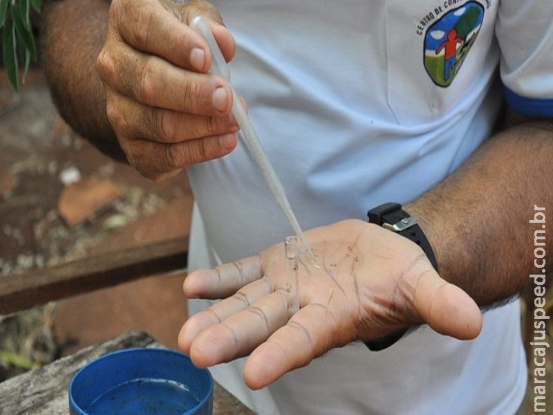
[[[440,278],[408,239],[357,220],[306,236],[315,264],[305,253],[287,259],[280,243],[187,277],[187,297],[230,296],[182,326],[180,349],[196,365],[250,355],[245,382],[259,389],[332,348],[410,324],[463,340],[480,333],[476,303]]]

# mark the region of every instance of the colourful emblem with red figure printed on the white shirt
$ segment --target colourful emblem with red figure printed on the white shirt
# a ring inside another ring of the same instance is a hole
[[[447,87],[476,41],[484,8],[476,1],[447,12],[424,35],[424,68],[433,82]]]

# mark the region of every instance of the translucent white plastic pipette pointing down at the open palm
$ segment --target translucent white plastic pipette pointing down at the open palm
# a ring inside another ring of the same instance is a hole
[[[236,94],[236,91],[234,91],[234,87],[232,86],[232,84],[230,84],[229,67],[227,65],[227,62],[225,61],[225,58],[223,57],[223,53],[221,53],[221,49],[219,49],[219,46],[215,41],[215,38],[213,37],[212,31],[209,30],[209,26],[207,26],[206,21],[201,16],[194,17],[194,19],[192,19],[190,23],[190,27],[196,30],[196,32],[200,33],[200,35],[203,36],[203,38],[209,45],[209,49],[212,53],[212,65],[209,68],[209,72],[219,75],[225,78],[227,82],[229,82],[233,95],[232,115],[234,115],[234,118],[236,118],[238,125],[240,125],[242,134],[247,142],[248,147],[250,148],[250,152],[254,160],[256,160],[256,163],[259,165],[259,168],[263,173],[263,177],[269,185],[274,198],[277,199],[279,205],[281,205],[281,208],[288,218],[290,225],[292,225],[294,232],[296,232],[301,243],[308,251],[313,263],[315,263],[315,255],[313,255],[313,251],[311,250],[311,247],[299,226],[296,215],[294,215],[294,212],[292,211],[292,207],[290,206],[290,202],[286,197],[286,193],[284,192],[284,187],[279,179],[279,176],[277,176],[277,172],[274,171],[274,168],[272,167],[267,154],[265,154],[265,151],[261,146],[261,142],[259,141],[259,137],[257,136],[254,126],[252,125],[252,122],[250,122],[250,118],[248,118],[247,112],[240,98],[238,98],[238,94]]]

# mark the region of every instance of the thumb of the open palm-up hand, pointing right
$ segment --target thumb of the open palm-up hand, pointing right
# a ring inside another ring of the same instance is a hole
[[[415,286],[413,304],[438,333],[460,340],[476,338],[482,329],[482,313],[474,299],[446,282],[434,270],[423,273]]]

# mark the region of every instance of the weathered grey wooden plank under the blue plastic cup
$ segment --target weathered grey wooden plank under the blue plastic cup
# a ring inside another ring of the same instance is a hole
[[[133,331],[5,380],[0,383],[0,415],[67,414],[69,383],[77,370],[106,353],[131,347],[163,348],[147,333]],[[253,412],[215,383],[213,414],[251,415]]]

